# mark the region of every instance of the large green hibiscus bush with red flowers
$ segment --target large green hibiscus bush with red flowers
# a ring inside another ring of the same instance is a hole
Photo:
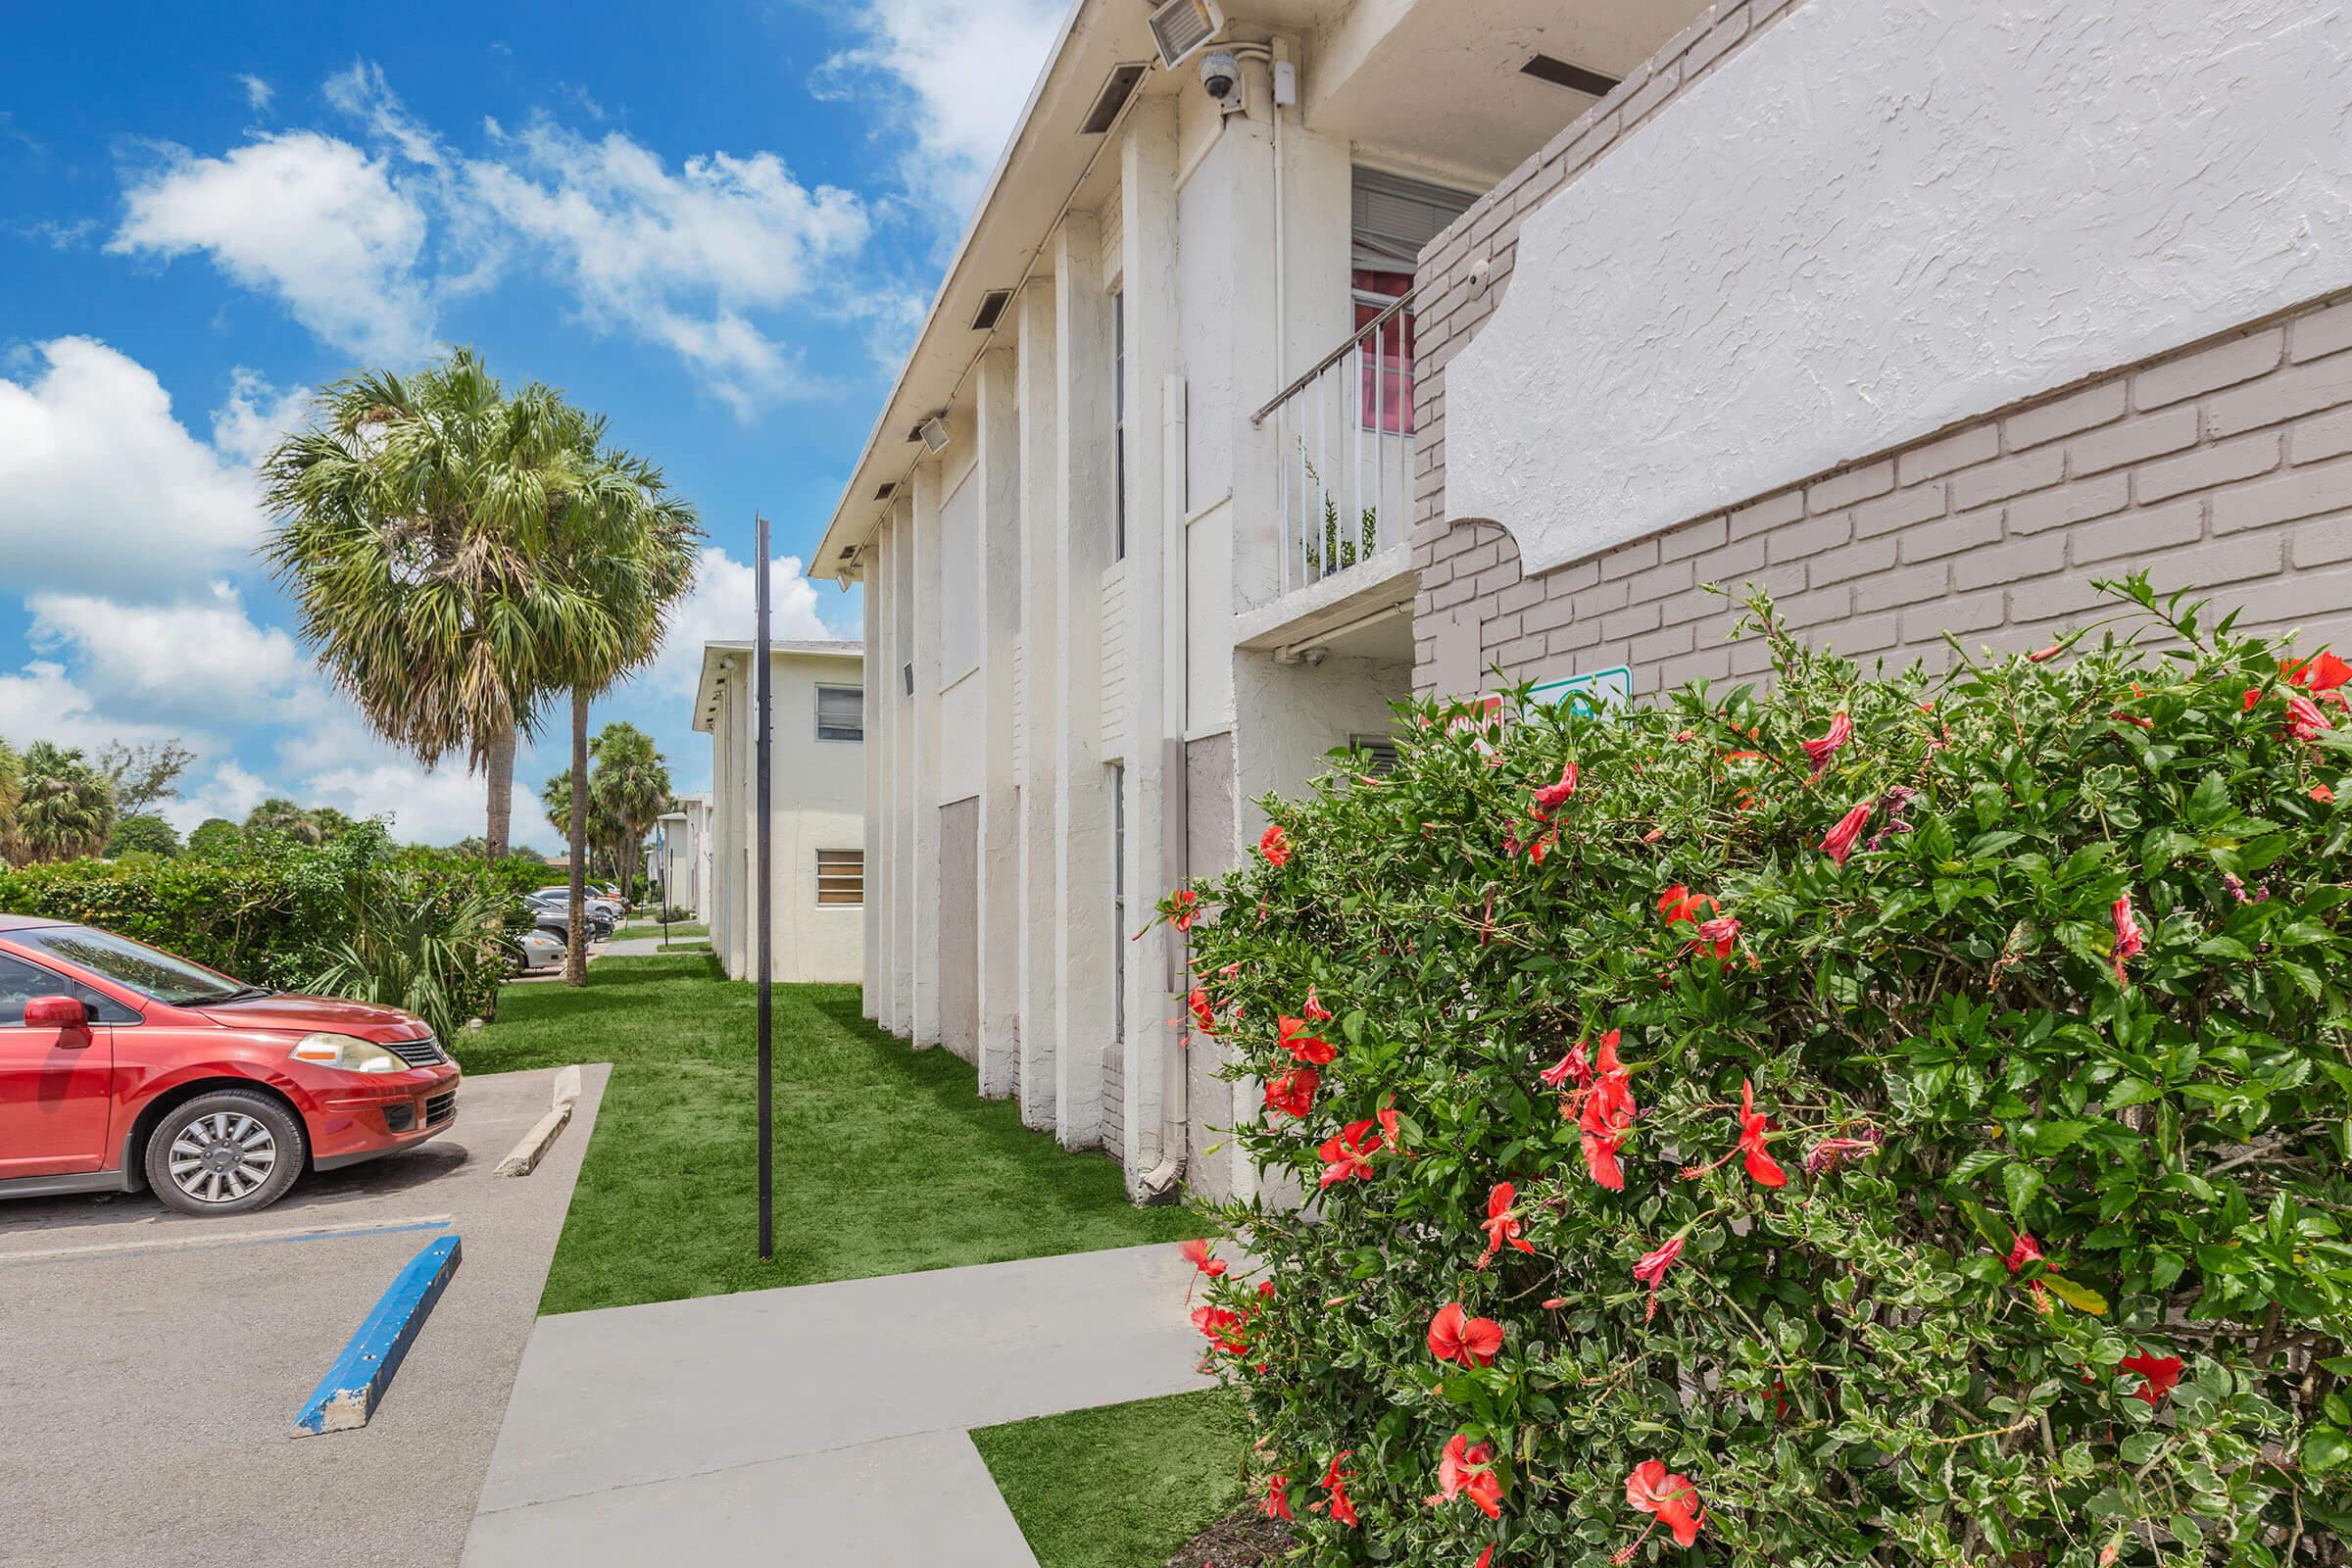
[[[2352,668],[2112,592],[1421,705],[1162,905],[1301,1561],[2347,1561]]]

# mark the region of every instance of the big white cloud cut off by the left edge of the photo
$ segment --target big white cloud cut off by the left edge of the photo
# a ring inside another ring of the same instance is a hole
[[[40,360],[0,381],[7,581],[169,590],[242,564],[263,529],[242,444],[188,435],[155,374],[106,343],[52,339]]]

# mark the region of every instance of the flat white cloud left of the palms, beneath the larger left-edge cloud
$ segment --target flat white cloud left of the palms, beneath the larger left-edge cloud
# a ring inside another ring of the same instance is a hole
[[[294,639],[254,625],[228,583],[162,607],[101,595],[35,592],[26,639],[68,654],[78,675],[134,710],[165,719],[228,712],[270,719],[306,696],[310,661]]]

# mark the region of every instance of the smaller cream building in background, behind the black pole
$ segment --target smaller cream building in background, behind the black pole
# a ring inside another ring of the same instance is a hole
[[[757,651],[703,644],[694,729],[710,736],[703,903],[736,980],[760,959]],[[769,644],[769,931],[776,980],[851,983],[866,961],[866,651]]]

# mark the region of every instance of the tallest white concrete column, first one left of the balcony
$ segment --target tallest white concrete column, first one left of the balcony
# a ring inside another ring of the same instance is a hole
[[[1174,827],[1183,811],[1176,762],[1183,733],[1183,623],[1171,614],[1183,583],[1183,355],[1176,310],[1176,103],[1145,99],[1127,118],[1120,148],[1122,263],[1127,320],[1127,938],[1181,875]],[[1160,1164],[1171,1060],[1183,1048],[1174,931],[1152,926],[1127,945],[1127,1105],[1122,1117],[1129,1190]],[[1174,1154],[1183,1152],[1178,1143]]]

